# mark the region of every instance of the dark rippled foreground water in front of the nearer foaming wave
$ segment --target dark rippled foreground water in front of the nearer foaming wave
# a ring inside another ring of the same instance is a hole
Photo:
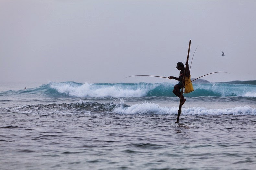
[[[182,123],[176,118],[1,114],[1,169],[255,168],[255,116],[187,115]]]

